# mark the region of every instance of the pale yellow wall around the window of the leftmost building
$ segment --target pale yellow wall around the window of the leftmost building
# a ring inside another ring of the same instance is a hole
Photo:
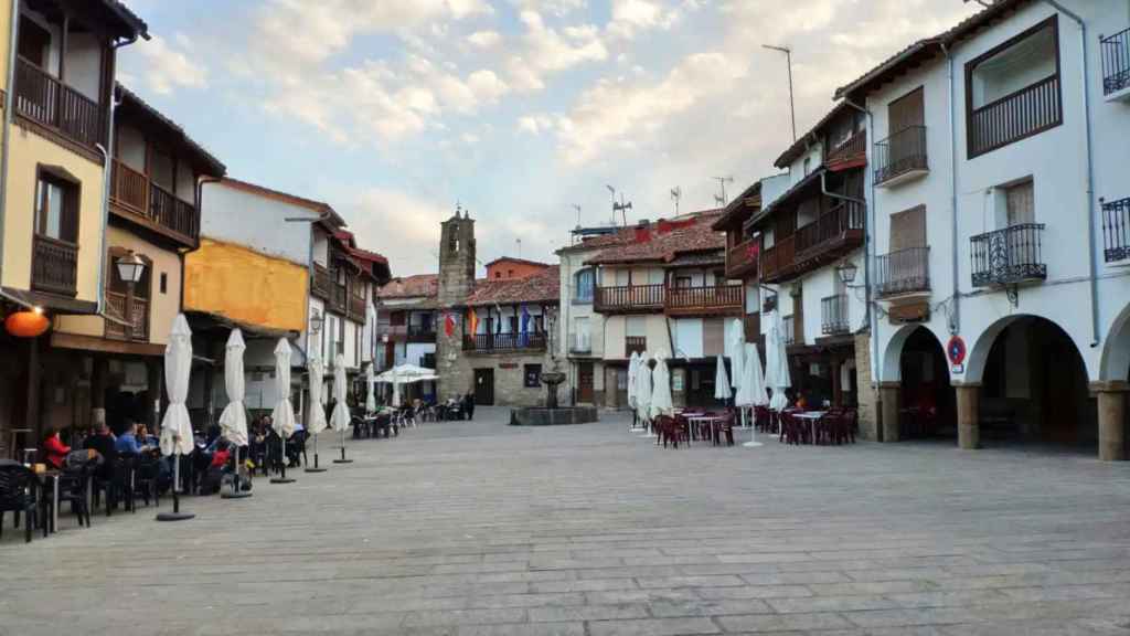
[[[2,0],[0,0],[2,1]],[[78,300],[97,301],[102,265],[102,178],[97,163],[12,124],[5,213],[3,285],[32,285],[32,233],[40,164],[59,165],[81,182],[78,221]]]

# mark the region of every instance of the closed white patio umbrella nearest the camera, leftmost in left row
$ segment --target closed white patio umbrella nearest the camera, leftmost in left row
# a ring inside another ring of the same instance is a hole
[[[184,401],[189,397],[189,377],[192,373],[192,330],[183,313],[173,320],[173,329],[165,345],[165,392],[168,409],[160,421],[160,452],[173,457],[173,512],[157,515],[159,522],[191,519],[195,515],[181,512],[181,455],[194,450],[192,421]]]

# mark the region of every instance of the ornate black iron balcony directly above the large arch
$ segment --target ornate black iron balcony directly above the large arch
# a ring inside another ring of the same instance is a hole
[[[1022,223],[970,239],[973,286],[1015,285],[1048,277],[1041,253],[1043,223]]]

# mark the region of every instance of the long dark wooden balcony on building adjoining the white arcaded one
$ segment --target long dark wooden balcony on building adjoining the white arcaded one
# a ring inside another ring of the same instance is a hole
[[[790,281],[833,263],[863,244],[866,206],[840,200],[816,221],[762,252],[760,280]]]

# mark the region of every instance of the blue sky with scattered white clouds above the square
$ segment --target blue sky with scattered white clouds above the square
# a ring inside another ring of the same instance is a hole
[[[330,203],[394,275],[438,222],[479,258],[556,260],[568,229],[714,207],[771,173],[836,86],[968,15],[962,0],[128,0],[121,79],[229,174]]]

